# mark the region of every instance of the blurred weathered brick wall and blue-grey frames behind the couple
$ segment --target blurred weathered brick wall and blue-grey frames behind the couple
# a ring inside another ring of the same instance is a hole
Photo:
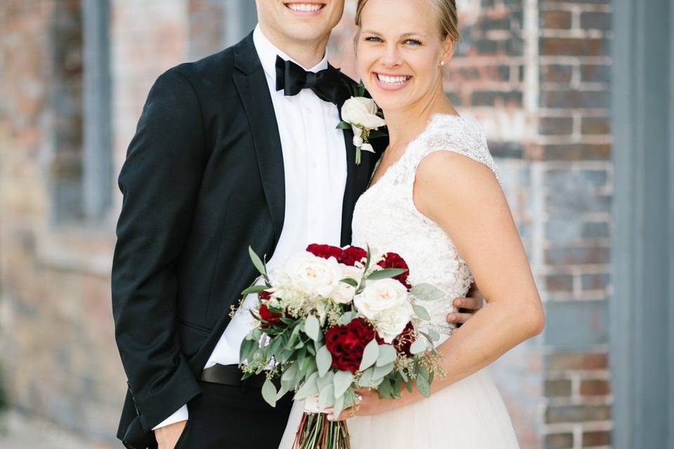
[[[346,3],[330,55],[355,76]],[[546,306],[492,368],[522,448],[674,448],[674,6],[458,9],[447,95],[487,130]],[[0,0],[0,447],[121,447],[117,173],[154,79],[255,23],[253,0]]]

